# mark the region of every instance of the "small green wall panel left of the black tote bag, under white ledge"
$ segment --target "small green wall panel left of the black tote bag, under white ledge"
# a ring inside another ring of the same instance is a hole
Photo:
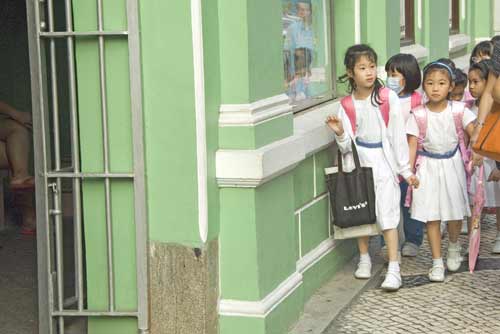
[[[293,194],[295,209],[310,202],[314,198],[314,162],[312,157],[302,161],[293,170]]]

